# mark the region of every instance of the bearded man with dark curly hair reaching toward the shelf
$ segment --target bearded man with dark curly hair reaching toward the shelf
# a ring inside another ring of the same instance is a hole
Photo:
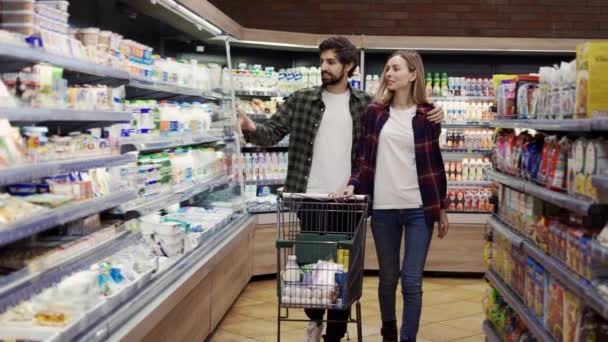
[[[354,164],[361,117],[372,101],[372,95],[348,83],[359,55],[348,39],[329,38],[319,45],[319,52],[321,87],[295,92],[265,124],[243,114],[239,119],[245,139],[257,145],[272,146],[290,134],[286,192],[330,194],[344,189]],[[428,119],[441,122],[441,108],[431,111]],[[306,314],[312,321],[306,341],[319,341],[324,310],[307,309]],[[325,341],[344,337],[348,316],[349,310],[329,310]]]

